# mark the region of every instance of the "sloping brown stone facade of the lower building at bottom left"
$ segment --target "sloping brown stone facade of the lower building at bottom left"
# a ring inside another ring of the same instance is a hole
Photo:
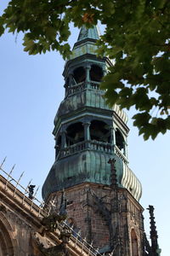
[[[0,256],[94,255],[62,223],[55,221],[55,229],[47,230],[44,217],[50,212],[0,175]]]

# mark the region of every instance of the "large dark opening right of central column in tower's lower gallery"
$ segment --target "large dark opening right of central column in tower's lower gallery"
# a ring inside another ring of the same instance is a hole
[[[90,125],[91,140],[111,143],[111,130],[103,121],[93,120]]]

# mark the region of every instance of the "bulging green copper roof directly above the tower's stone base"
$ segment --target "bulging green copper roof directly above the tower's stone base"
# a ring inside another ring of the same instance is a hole
[[[108,161],[116,160],[116,178],[119,187],[126,188],[139,201],[142,187],[130,168],[114,153],[105,154],[101,150],[82,150],[77,154],[54,162],[42,186],[42,198],[63,188],[71,188],[80,183],[111,184],[111,166]]]

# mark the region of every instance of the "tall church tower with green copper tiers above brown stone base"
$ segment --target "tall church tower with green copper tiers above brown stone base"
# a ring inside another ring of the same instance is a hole
[[[99,89],[113,64],[96,56],[97,39],[96,26],[82,27],[65,63],[65,99],[54,119],[55,161],[42,197],[59,207],[65,189],[68,224],[99,253],[143,256],[142,189],[128,167],[127,115],[109,108]]]

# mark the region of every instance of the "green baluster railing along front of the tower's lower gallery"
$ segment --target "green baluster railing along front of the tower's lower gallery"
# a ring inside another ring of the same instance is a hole
[[[76,143],[70,147],[61,149],[59,151],[59,158],[66,157],[71,154],[76,154],[86,149],[92,149],[105,152],[106,154],[111,154],[113,152],[113,145],[111,145],[111,143],[102,143],[98,141],[83,141],[81,143]]]

